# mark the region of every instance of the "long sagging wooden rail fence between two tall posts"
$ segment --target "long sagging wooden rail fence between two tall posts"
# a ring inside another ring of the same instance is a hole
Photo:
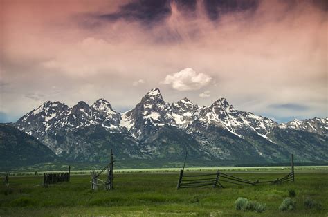
[[[187,159],[187,153],[185,153],[185,160]],[[276,180],[268,181],[250,181],[236,176],[231,176],[226,173],[217,171],[216,173],[184,173],[185,162],[183,163],[183,169],[179,174],[178,185],[176,189],[190,188],[190,187],[224,187],[221,182],[227,182],[235,185],[257,185],[261,183],[280,184],[282,182],[290,182],[295,180],[294,175],[294,155],[291,154],[291,172],[283,178],[277,178]]]

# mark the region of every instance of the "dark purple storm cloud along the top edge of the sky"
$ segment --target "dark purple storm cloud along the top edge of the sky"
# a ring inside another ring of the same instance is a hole
[[[98,18],[108,21],[126,19],[152,24],[160,22],[171,15],[172,3],[176,4],[180,12],[188,13],[189,17],[194,16],[194,12],[197,10],[196,0],[138,0],[121,6],[117,12],[99,15]],[[206,14],[213,21],[229,12],[256,10],[259,5],[258,0],[205,0],[201,3]]]

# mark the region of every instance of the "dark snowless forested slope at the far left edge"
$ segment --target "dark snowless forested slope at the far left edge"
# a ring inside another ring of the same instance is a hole
[[[33,136],[15,126],[0,124],[1,167],[53,162],[56,155]]]

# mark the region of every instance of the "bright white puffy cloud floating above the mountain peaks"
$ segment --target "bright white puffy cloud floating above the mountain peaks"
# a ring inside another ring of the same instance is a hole
[[[172,84],[178,91],[199,90],[210,84],[212,77],[204,73],[196,73],[192,68],[185,68],[178,73],[166,75],[163,84]]]

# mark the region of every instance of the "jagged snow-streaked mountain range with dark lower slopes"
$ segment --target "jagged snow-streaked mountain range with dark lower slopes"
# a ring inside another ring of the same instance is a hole
[[[107,100],[92,105],[44,102],[12,124],[67,162],[107,162],[113,149],[120,162],[145,167],[181,162],[185,151],[199,165],[327,162],[327,118],[278,124],[239,111],[225,98],[198,106],[183,98],[163,100],[158,88],[119,113]]]

